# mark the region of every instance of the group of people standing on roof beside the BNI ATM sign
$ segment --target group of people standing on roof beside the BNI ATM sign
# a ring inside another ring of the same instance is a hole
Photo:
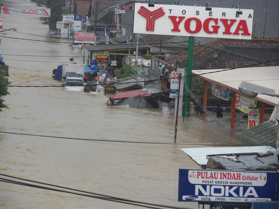
[[[171,72],[175,70],[176,69],[174,65],[165,64],[164,66],[162,66],[162,63],[159,64],[158,74],[160,75],[161,79],[162,91],[168,91],[170,89]]]

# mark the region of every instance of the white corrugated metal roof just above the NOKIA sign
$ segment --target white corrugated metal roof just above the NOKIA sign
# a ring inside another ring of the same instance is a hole
[[[207,164],[207,155],[213,154],[236,154],[236,153],[266,153],[267,151],[275,152],[276,149],[269,146],[254,146],[254,147],[199,147],[199,148],[182,148],[193,161],[198,165]]]

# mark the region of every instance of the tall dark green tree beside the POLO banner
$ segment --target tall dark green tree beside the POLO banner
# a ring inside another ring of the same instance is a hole
[[[61,21],[62,8],[65,6],[65,0],[31,0],[37,6],[46,6],[50,8],[49,29],[56,30],[56,22]]]

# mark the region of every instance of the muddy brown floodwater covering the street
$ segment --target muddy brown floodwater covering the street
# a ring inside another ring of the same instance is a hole
[[[24,1],[3,1],[5,6],[34,6]],[[3,3],[1,1],[1,3]],[[1,15],[4,28],[49,35],[39,18]],[[60,41],[12,31],[9,37]],[[3,54],[69,55],[69,44],[2,38]],[[4,55],[12,84],[60,84],[52,70],[69,57]],[[14,59],[14,60],[8,60]],[[78,57],[78,62],[83,58]],[[16,60],[49,61],[24,62]],[[58,62],[58,63],[57,63]],[[90,139],[173,142],[174,116],[158,111],[107,107],[107,98],[62,87],[10,87],[4,99],[9,109],[0,113],[0,130],[25,134]],[[178,121],[177,141],[183,143],[234,143],[214,120],[197,117]],[[180,150],[197,145],[129,144],[0,134],[0,172],[35,181],[117,196],[121,198],[197,208],[177,201],[178,169],[199,168]],[[140,208],[71,194],[0,183],[0,208]]]

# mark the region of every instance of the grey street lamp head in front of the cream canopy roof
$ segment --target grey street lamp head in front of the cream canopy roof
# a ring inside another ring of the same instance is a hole
[[[276,94],[274,89],[269,89],[257,84],[252,84],[247,81],[241,82],[238,87],[238,91],[242,96],[246,96],[249,98],[255,98],[258,94],[279,97],[279,94]]]

